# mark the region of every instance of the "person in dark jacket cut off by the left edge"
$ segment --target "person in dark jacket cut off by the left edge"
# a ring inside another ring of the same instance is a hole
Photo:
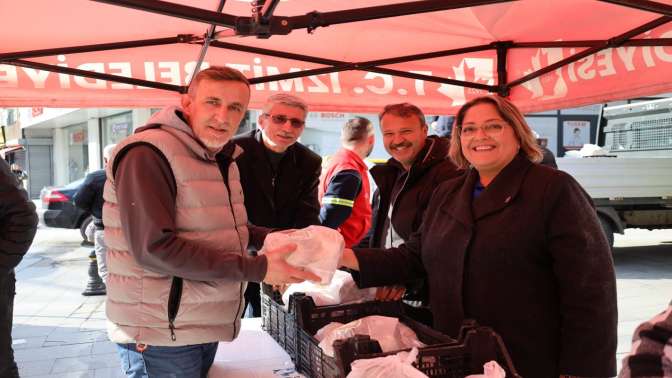
[[[28,251],[37,230],[35,205],[0,159],[0,377],[18,377],[12,350],[14,268]]]

